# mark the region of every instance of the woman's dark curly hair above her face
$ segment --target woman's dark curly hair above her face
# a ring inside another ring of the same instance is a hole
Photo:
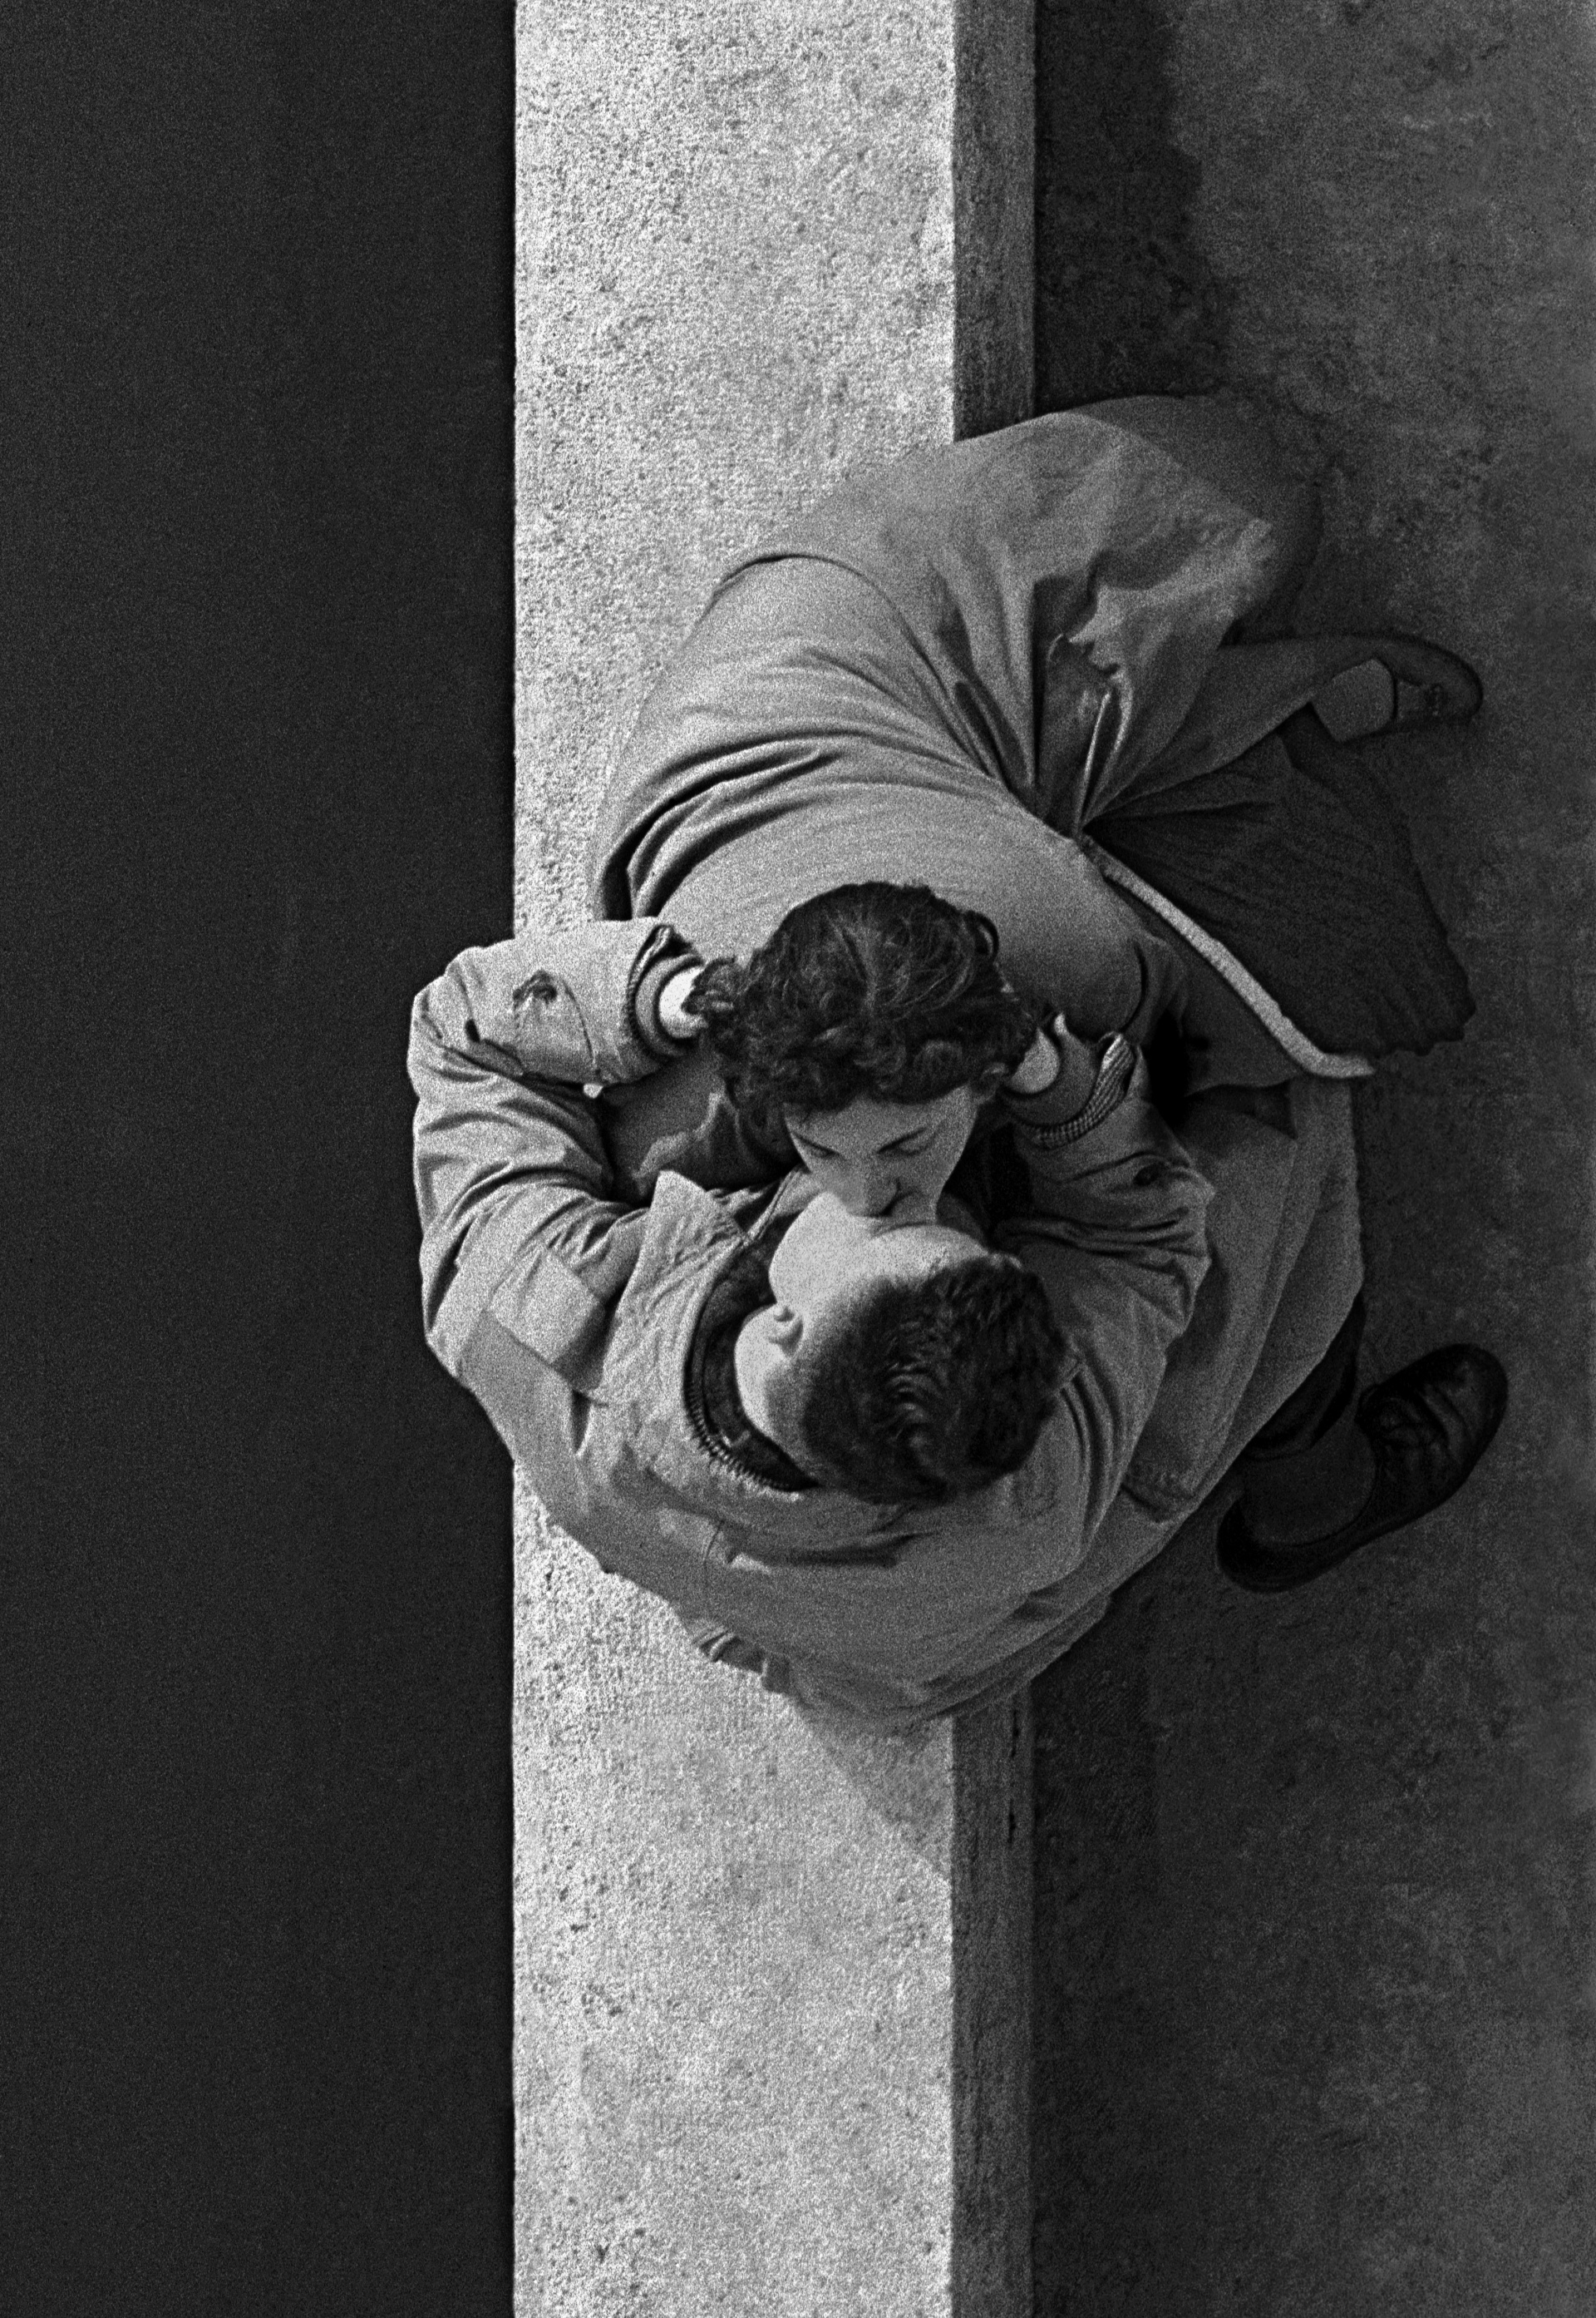
[[[767,1136],[783,1113],[843,1110],[862,1094],[994,1094],[1035,1034],[998,971],[991,920],[929,885],[834,885],[799,902],[746,964],[711,960],[688,1011]]]

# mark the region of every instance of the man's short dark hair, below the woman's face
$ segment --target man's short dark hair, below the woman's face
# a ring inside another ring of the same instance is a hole
[[[815,1347],[797,1458],[850,1497],[940,1504],[1024,1465],[1063,1361],[1047,1291],[1012,1259],[887,1280]]]

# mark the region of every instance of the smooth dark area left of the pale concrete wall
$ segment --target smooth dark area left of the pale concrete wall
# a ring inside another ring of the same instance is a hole
[[[510,2309],[510,1477],[408,1006],[510,918],[512,16],[0,25],[0,2302]]]

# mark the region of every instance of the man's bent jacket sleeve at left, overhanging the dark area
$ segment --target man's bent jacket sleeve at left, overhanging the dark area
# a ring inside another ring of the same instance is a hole
[[[584,1087],[676,1048],[658,997],[686,955],[649,918],[533,930],[463,950],[415,1001],[415,1194],[426,1337],[452,1375],[512,1266],[519,1333],[572,1382],[593,1375],[646,1210],[614,1196]]]

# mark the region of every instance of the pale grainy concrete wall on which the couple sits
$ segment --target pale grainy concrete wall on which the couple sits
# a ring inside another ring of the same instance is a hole
[[[1031,21],[978,14],[980,76],[954,0],[521,7],[524,918],[584,911],[718,566],[857,459],[1024,415]],[[524,2318],[1019,2318],[1026,1778],[1008,1711],[801,1725],[524,1507]]]

